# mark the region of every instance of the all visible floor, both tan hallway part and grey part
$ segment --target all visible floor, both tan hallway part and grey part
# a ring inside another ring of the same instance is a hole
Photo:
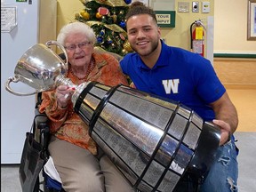
[[[240,149],[238,158],[239,192],[252,192],[256,188],[256,90],[229,89],[239,116],[236,130],[236,146]],[[1,191],[20,192],[19,165],[1,164]]]

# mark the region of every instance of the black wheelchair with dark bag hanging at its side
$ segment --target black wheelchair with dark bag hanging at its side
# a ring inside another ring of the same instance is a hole
[[[32,128],[30,132],[33,135],[33,139],[34,139],[33,141],[36,143],[36,146],[38,146],[41,149],[39,161],[41,162],[43,161],[44,164],[46,164],[50,156],[48,151],[48,144],[50,140],[49,119],[44,113],[42,114],[39,112],[39,105],[42,102],[42,92],[37,93],[36,97],[37,98],[36,98],[36,107],[35,107],[35,117],[34,117],[34,122],[32,124]],[[23,148],[23,152],[24,150],[25,149]],[[24,189],[23,186],[28,185],[29,180],[32,179],[32,180],[36,180],[35,186],[31,187],[31,188],[34,188],[32,190],[33,192],[65,192],[63,188],[60,188],[60,184],[58,186],[54,185],[54,183],[56,183],[57,181],[53,180],[49,175],[47,175],[44,172],[44,166],[38,173],[35,171],[35,169],[31,168],[31,164],[33,164],[33,166],[36,166],[35,160],[33,160],[32,163],[29,162],[27,166],[24,166],[22,162],[24,161],[28,162],[31,159],[29,158],[24,159],[25,157],[23,156],[23,152],[22,152],[22,157],[20,161],[20,170],[19,170],[20,185],[23,191],[27,190],[27,189]],[[26,172],[27,175],[24,176],[24,172]],[[32,185],[34,185],[34,182],[32,183]]]

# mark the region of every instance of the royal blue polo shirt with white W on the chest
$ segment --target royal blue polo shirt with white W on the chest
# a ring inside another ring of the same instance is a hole
[[[125,55],[120,66],[140,91],[180,101],[204,121],[215,117],[209,103],[226,92],[209,60],[164,42],[153,68],[148,68],[137,53]]]

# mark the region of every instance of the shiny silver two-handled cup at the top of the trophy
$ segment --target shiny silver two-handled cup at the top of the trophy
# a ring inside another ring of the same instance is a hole
[[[68,60],[64,62],[58,54],[53,52],[52,45],[57,45],[68,58],[65,48],[55,41],[31,46],[18,60],[14,69],[15,76],[9,77],[5,83],[8,92],[18,96],[28,96],[37,92],[50,91],[58,86],[59,79],[64,78],[68,72]],[[18,82],[28,84],[36,91],[30,93],[14,92],[10,84]]]

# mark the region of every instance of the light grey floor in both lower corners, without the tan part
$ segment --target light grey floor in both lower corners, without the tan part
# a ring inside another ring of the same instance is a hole
[[[238,188],[241,192],[255,191],[256,132],[236,132],[238,156]],[[21,192],[18,165],[1,165],[1,191]]]

